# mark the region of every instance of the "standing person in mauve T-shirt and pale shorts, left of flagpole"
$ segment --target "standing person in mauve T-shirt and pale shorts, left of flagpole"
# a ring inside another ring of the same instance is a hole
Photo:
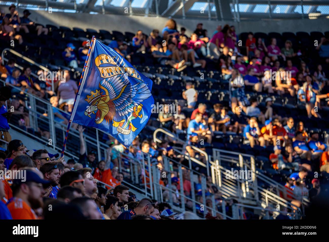
[[[68,111],[72,112],[75,94],[78,92],[77,83],[70,79],[70,72],[64,70],[64,81],[59,82],[57,96],[59,97],[59,105],[66,102]]]

